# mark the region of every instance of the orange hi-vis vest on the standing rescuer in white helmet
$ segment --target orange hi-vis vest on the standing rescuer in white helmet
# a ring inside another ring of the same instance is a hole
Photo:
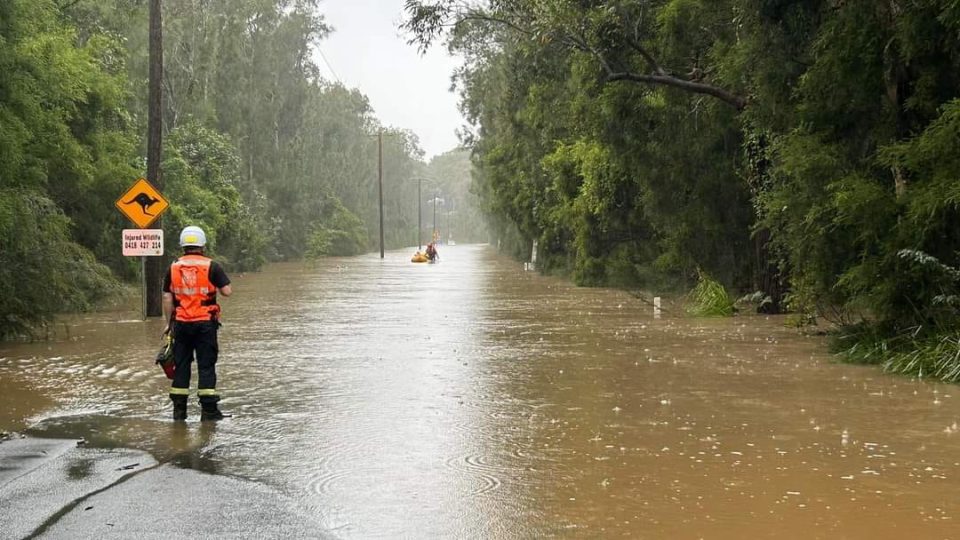
[[[184,255],[170,266],[170,292],[177,300],[176,320],[198,322],[216,319],[217,288],[210,282],[210,263],[203,255]]]

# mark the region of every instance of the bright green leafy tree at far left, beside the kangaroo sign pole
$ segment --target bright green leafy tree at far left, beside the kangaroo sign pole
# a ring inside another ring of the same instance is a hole
[[[115,51],[106,38],[79,43],[53,2],[0,6],[0,337],[116,286],[87,249],[103,250],[108,233],[74,241],[97,218],[107,231],[119,221],[112,199],[97,200],[128,170]]]

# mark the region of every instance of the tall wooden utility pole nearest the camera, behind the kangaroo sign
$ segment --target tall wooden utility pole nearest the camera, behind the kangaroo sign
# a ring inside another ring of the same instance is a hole
[[[163,99],[161,82],[163,80],[163,18],[160,12],[161,0],[150,0],[150,87],[147,96],[147,180],[158,190],[163,190],[160,175],[160,159],[163,148]],[[154,227],[163,228],[163,218],[154,222]],[[146,315],[163,315],[161,303],[161,280],[163,279],[163,257],[148,257],[145,263]]]

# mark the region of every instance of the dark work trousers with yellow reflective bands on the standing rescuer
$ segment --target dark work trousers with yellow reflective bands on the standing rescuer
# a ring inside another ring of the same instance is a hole
[[[177,365],[170,385],[170,399],[185,400],[190,395],[190,364],[197,355],[197,395],[201,404],[215,405],[217,394],[217,329],[216,321],[179,322],[173,329],[173,359]]]

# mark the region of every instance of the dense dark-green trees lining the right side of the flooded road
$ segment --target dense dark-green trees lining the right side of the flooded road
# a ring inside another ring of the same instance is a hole
[[[457,74],[476,190],[518,256],[839,323],[960,378],[960,4],[407,2]]]

